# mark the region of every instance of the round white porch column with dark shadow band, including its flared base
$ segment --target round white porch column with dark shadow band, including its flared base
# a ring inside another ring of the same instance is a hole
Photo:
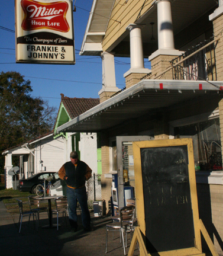
[[[157,0],[158,50],[148,57],[152,60],[159,55],[182,55],[174,48],[173,23],[170,0]]]

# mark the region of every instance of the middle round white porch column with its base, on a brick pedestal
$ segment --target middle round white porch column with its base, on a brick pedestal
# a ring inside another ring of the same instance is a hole
[[[124,74],[124,77],[130,73],[150,73],[150,69],[144,68],[143,40],[141,28],[143,25],[130,24],[126,28],[130,30],[130,62],[131,68]]]

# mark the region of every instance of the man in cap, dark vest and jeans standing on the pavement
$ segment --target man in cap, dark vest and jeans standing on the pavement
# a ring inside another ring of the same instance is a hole
[[[71,232],[77,231],[77,200],[82,210],[82,223],[85,231],[91,231],[91,216],[88,210],[88,196],[85,181],[91,178],[92,170],[85,162],[78,159],[76,151],[70,153],[70,162],[59,170],[60,179],[67,184],[67,202]]]

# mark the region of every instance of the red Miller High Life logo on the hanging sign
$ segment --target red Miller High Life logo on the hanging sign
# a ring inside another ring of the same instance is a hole
[[[37,30],[48,28],[61,32],[70,30],[66,20],[67,2],[41,3],[33,0],[22,0],[21,7],[24,11],[22,21],[23,30]]]

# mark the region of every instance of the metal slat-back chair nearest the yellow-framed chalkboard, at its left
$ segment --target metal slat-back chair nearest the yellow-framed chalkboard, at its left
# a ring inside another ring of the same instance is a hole
[[[118,231],[120,233],[120,238],[122,242],[122,247],[124,248],[125,255],[125,247],[127,247],[127,228],[130,227],[130,233],[132,235],[133,229],[132,223],[134,223],[134,215],[135,215],[135,206],[129,205],[119,209],[119,221],[115,221],[113,223],[106,224],[106,248],[105,253],[108,252],[108,231],[114,232]],[[125,232],[125,242],[124,242],[124,232]]]

